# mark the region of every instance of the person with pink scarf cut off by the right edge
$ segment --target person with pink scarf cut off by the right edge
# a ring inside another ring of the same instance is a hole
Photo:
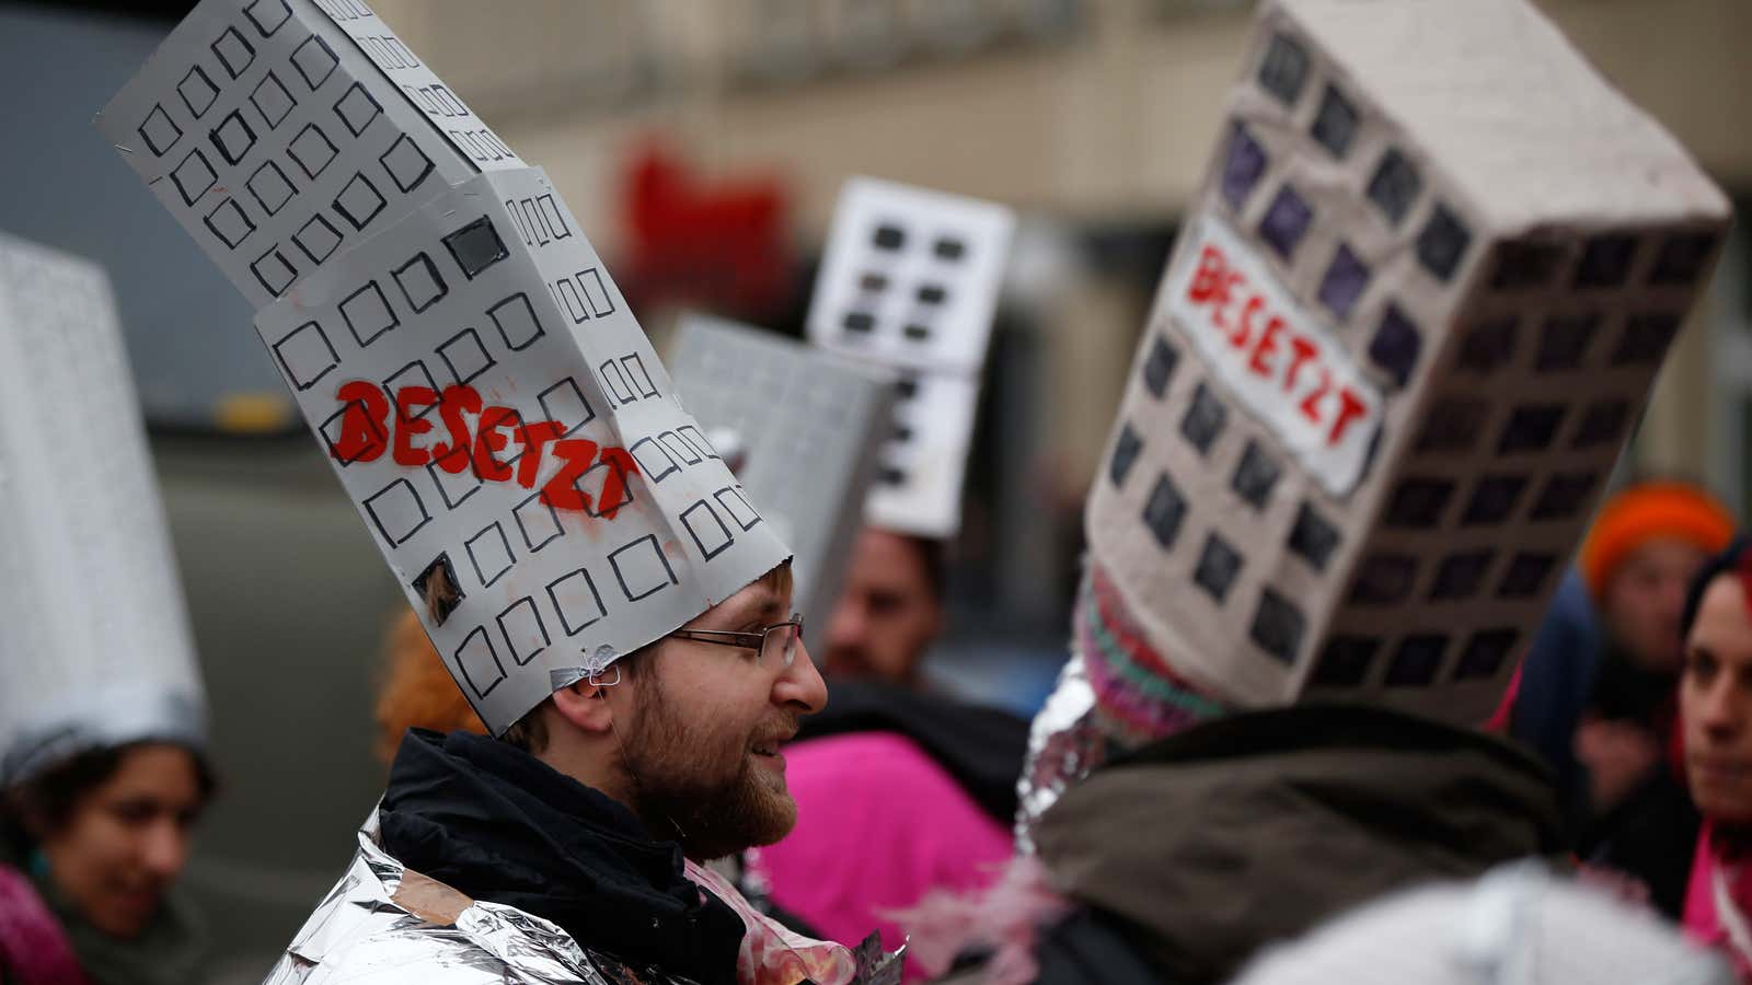
[[[1752,981],[1752,542],[1736,540],[1698,573],[1684,633],[1685,771],[1705,818],[1685,929]]]

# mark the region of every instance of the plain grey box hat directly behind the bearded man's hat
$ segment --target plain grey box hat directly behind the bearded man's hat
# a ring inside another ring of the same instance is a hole
[[[708,436],[734,438],[736,477],[797,552],[792,605],[825,629],[894,428],[895,373],[697,314],[682,321],[669,365]]]

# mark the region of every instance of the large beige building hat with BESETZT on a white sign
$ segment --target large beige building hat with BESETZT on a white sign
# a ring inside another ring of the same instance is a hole
[[[1263,5],[1086,512],[1153,650],[1484,720],[1727,217],[1524,0]]]

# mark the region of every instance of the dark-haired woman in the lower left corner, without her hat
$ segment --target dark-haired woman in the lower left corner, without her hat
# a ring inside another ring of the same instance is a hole
[[[0,981],[201,981],[208,941],[172,887],[212,794],[198,747],[154,740],[84,748],[11,783]],[[68,959],[81,976],[67,976]]]

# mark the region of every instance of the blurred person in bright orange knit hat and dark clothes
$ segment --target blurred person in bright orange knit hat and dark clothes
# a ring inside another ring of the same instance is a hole
[[[1675,920],[1698,833],[1678,759],[1680,617],[1692,575],[1733,528],[1710,492],[1685,482],[1636,482],[1608,498],[1515,696],[1514,734],[1558,769],[1579,855],[1645,883]]]

